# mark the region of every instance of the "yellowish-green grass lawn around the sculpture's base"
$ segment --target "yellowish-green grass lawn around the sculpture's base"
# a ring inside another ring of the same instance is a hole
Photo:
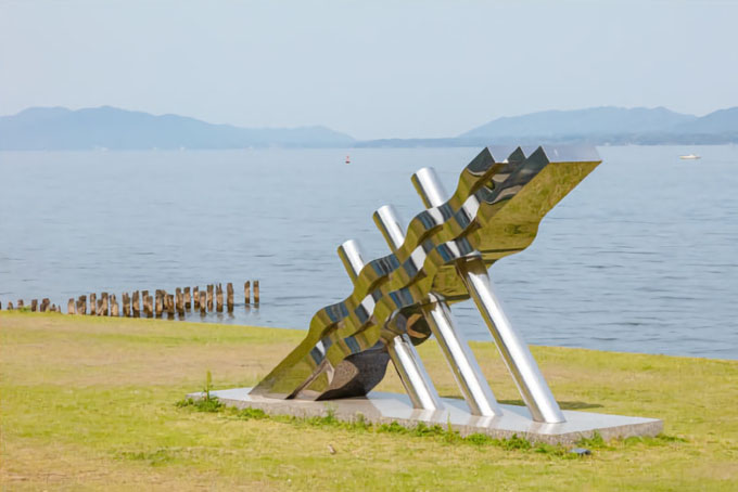
[[[588,457],[177,406],[207,371],[215,389],[253,386],[303,334],[1,312],[0,489],[738,489],[738,361],[532,347],[562,407],[665,422]],[[497,398],[518,401],[495,347],[472,347]],[[458,396],[437,346],[419,351]],[[378,389],[402,387],[389,371]]]

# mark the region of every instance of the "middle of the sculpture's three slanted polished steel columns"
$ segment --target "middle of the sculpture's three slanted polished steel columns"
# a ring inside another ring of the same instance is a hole
[[[393,207],[387,205],[377,210],[374,222],[390,248],[393,251],[397,250],[405,242],[405,234]],[[502,415],[473,352],[454,324],[446,302],[435,296],[429,300],[430,302],[422,308],[425,321],[438,341],[470,413],[482,416]]]

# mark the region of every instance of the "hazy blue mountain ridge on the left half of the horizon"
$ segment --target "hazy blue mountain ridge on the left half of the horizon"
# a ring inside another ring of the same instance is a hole
[[[110,106],[33,107],[0,117],[0,150],[341,147],[354,139],[325,127],[239,128]]]

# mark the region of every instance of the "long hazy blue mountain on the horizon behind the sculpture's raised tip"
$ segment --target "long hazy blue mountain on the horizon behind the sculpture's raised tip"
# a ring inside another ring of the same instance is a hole
[[[497,118],[459,135],[460,139],[507,137],[615,135],[663,132],[690,124],[697,116],[674,113],[665,107],[591,107],[575,111],[546,111]]]

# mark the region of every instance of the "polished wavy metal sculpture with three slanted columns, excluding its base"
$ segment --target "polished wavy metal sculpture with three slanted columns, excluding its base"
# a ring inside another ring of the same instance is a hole
[[[390,362],[416,409],[441,399],[413,346],[435,335],[470,413],[500,414],[449,305],[470,297],[483,315],[521,397],[536,422],[563,414],[522,337],[510,325],[487,276],[497,260],[525,249],[544,216],[600,158],[594,147],[484,148],[446,198],[424,168],[412,183],[425,207],[403,232],[392,207],[374,212],[389,256],[364,262],[359,246],[341,245],[354,290],[318,311],[306,338],[251,392],[270,398],[328,400],[367,394]]]

